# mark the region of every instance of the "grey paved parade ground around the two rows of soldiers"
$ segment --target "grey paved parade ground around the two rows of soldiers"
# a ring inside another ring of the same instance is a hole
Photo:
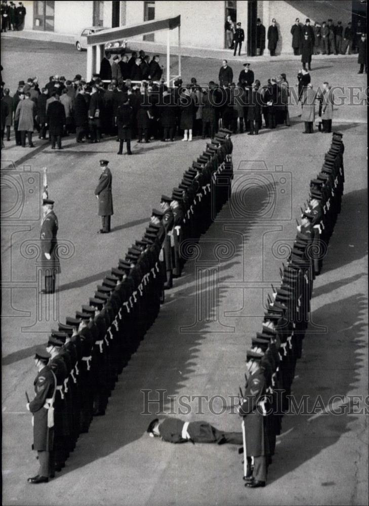
[[[10,61],[12,51],[19,54],[18,48],[7,50],[6,62]],[[33,54],[32,69],[42,68],[40,57],[51,62],[52,55],[44,49]],[[54,61],[59,73],[67,74],[67,67],[59,70],[59,62],[63,61],[59,53],[54,55]],[[188,59],[191,72],[194,70],[194,75],[203,75],[205,79],[200,63]],[[219,62],[207,61],[208,64],[210,75],[214,75]],[[69,73],[74,75],[78,68],[72,65],[71,55]],[[273,65],[258,71],[266,77],[282,70]],[[295,75],[296,68],[289,65],[290,62],[283,64],[283,69]],[[344,86],[360,86],[362,76],[354,75],[355,70],[352,60],[347,62],[344,72],[326,61],[324,68],[313,75],[320,82],[329,72],[333,76],[330,79],[338,82],[341,72]],[[185,72],[191,75],[188,67]],[[27,70],[26,77],[28,73]],[[18,80],[15,74],[14,77]],[[2,221],[2,273],[3,282],[7,282],[3,289],[6,317],[2,320],[4,504],[182,506],[367,502],[367,417],[355,411],[340,416],[285,417],[268,486],[258,491],[243,487],[236,447],[177,446],[144,434],[152,415],[142,414],[143,389],[166,390],[163,406],[166,412],[170,407],[168,395],[222,396],[225,405],[217,397],[213,410],[204,403],[202,415],[191,411],[183,418],[207,419],[229,430],[239,428],[239,419],[231,413],[229,396],[237,394],[238,385],[243,382],[245,351],[260,328],[268,287],[278,280],[283,248],[278,248],[276,241],[293,239],[295,217],[307,197],[309,180],[318,172],[331,140],[330,136],[318,133],[303,136],[297,113],[297,108],[292,107],[290,129],[262,131],[259,137],[234,137],[237,171],[233,192],[238,200],[232,200],[233,207],[223,208],[200,242],[201,256],[186,264],[183,277],[168,293],[155,324],[121,374],[106,415],[95,419],[90,432],[79,438],[57,479],[39,487],[26,484],[36,461],[30,451],[31,426],[24,408],[24,391],[32,392],[34,347],[46,341],[54,324],[45,318],[36,321],[37,310],[45,308],[37,306],[34,258],[24,243],[38,238],[37,205],[33,205],[37,199],[32,200],[31,196],[25,199],[23,215],[17,220]],[[366,125],[362,122],[365,112],[362,106],[347,105],[336,113],[340,118],[336,128],[344,133],[346,145],[345,196],[323,272],[314,284],[310,333],[304,341],[303,359],[293,385],[298,400],[305,394],[311,396],[310,408],[317,395],[324,406],[333,395],[341,395],[345,396],[343,404],[352,407],[354,400],[348,396],[367,394],[367,173]],[[127,158],[114,154],[116,143],[112,140],[99,146],[77,146],[69,139],[64,151],[52,152],[50,147],[40,146],[29,153],[28,159],[23,158],[21,169],[23,164],[29,164],[33,172],[48,167],[51,196],[56,199],[60,222],[59,239],[70,241],[74,247],[73,251],[66,242],[72,255],[62,263],[56,317],[64,321],[65,316],[88,301],[104,273],[142,235],[158,196],[171,190],[203,146],[201,140],[191,144],[134,145],[136,154]],[[26,152],[6,148],[3,160],[19,160]],[[101,157],[110,159],[113,173],[115,214],[113,233],[107,236],[95,235],[99,219],[93,190]],[[275,172],[275,165],[283,167],[285,181]],[[283,194],[276,191],[272,200],[265,187],[271,178],[276,181],[277,190],[282,186],[286,190]],[[12,198],[11,190],[3,189],[3,212],[10,213]],[[16,216],[15,212],[19,214],[19,209],[11,210],[12,216]],[[25,220],[30,216],[33,222]],[[214,247],[225,240],[228,242],[219,259],[219,250],[218,257],[214,256]],[[218,263],[214,264],[214,260]],[[218,276],[213,278],[215,283],[210,286],[196,275],[203,262],[209,269],[219,269]],[[213,293],[212,288],[217,291]],[[202,302],[209,301],[211,309],[197,321],[201,294]],[[190,404],[195,408],[197,402]],[[151,413],[155,407],[151,405]],[[174,410],[176,407],[178,400]]]

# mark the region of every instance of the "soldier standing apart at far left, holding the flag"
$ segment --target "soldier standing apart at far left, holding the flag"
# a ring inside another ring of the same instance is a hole
[[[43,200],[43,220],[41,222],[41,266],[45,277],[45,288],[41,293],[54,293],[56,288],[56,277],[60,273],[60,262],[57,254],[58,242],[58,218],[54,210],[54,200],[45,198]]]

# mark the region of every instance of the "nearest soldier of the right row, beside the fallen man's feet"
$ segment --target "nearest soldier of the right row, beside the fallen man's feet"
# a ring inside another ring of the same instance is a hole
[[[247,459],[254,459],[254,469],[245,478],[245,486],[264,487],[267,476],[268,457],[270,456],[269,438],[266,433],[266,416],[263,414],[263,397],[266,381],[260,363],[263,354],[247,352],[249,376],[245,386],[244,398],[238,408],[243,417]],[[244,456],[246,458],[246,455]]]

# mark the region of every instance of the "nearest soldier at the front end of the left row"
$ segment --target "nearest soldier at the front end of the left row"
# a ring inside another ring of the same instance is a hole
[[[48,366],[51,355],[44,347],[36,349],[34,362],[38,373],[34,381],[34,399],[27,403],[33,414],[33,445],[37,451],[39,470],[36,476],[28,478],[28,483],[47,483],[54,478],[54,399],[56,392],[55,375]]]

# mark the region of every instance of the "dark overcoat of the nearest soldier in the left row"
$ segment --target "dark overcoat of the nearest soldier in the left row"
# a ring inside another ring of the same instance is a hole
[[[34,381],[35,398],[29,403],[33,414],[33,449],[51,451],[54,444],[54,430],[48,427],[48,409],[44,408],[46,399],[51,399],[55,390],[55,378],[49,366],[40,370]]]

